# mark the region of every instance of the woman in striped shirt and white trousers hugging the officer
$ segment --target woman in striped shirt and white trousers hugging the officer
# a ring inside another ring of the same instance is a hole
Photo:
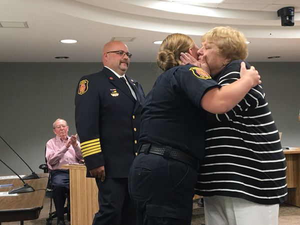
[[[198,53],[221,86],[240,79],[240,63],[248,54],[245,40],[228,26],[202,36]],[[197,64],[186,55],[184,63]],[[209,115],[195,189],[204,196],[205,224],[277,224],[279,203],[287,194],[285,168],[278,130],[257,85],[228,112]]]

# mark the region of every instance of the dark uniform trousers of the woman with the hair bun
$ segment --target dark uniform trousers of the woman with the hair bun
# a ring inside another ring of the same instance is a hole
[[[128,174],[137,225],[190,225],[196,170],[181,161],[139,153]]]

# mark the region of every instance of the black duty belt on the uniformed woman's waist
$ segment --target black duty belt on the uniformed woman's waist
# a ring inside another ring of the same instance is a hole
[[[178,161],[187,163],[194,168],[197,168],[198,166],[198,160],[189,156],[187,153],[170,146],[163,146],[163,145],[158,145],[153,143],[145,143],[142,144],[138,149],[138,153],[141,152],[144,152],[145,154],[147,153],[159,154],[165,158],[170,157]]]

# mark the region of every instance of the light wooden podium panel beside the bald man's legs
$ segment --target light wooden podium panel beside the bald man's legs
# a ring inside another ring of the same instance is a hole
[[[99,210],[98,188],[95,178],[86,178],[83,164],[63,165],[70,170],[71,224],[91,224],[94,214]]]

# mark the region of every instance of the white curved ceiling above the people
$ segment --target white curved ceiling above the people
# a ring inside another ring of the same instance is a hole
[[[0,27],[0,62],[100,61],[102,46],[112,37],[135,37],[125,42],[133,55],[131,62],[153,62],[159,45],[152,41],[181,32],[200,45],[200,36],[217,25],[244,32],[251,42],[248,61],[300,61],[300,0],[198,2],[0,0],[0,22],[28,25]],[[286,6],[295,7],[294,26],[281,26],[276,11]],[[63,44],[60,39],[78,42]],[[281,57],[267,58],[275,55]]]

